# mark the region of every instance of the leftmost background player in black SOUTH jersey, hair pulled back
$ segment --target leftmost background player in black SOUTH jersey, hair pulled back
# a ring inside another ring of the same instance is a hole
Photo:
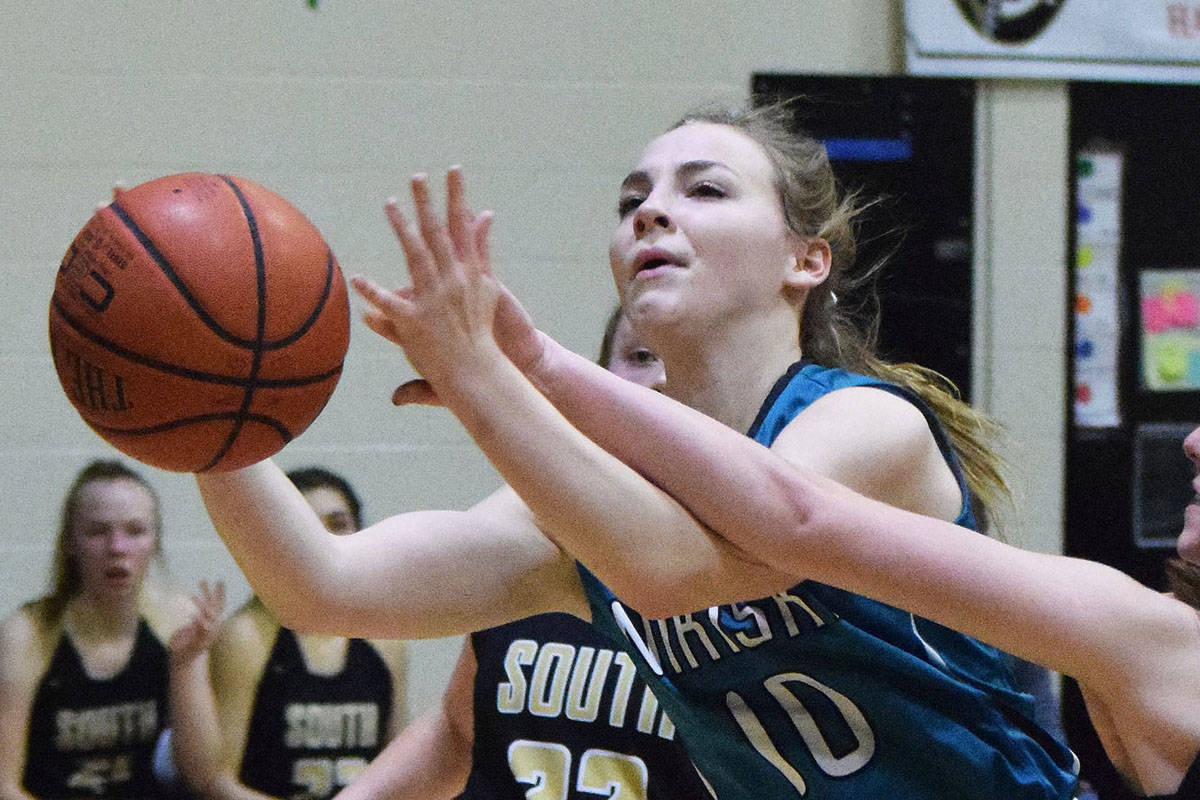
[[[160,519],[154,489],[120,462],[92,462],[71,486],[49,594],[0,622],[5,800],[160,796],[163,643],[194,610],[145,581]]]

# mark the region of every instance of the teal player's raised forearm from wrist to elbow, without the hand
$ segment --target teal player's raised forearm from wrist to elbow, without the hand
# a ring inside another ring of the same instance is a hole
[[[720,602],[731,555],[667,494],[582,435],[497,357],[443,383],[442,401],[539,525],[643,613]]]

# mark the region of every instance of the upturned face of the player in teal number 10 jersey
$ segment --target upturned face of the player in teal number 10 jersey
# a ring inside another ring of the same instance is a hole
[[[654,139],[618,209],[608,255],[638,325],[712,321],[781,301],[796,237],[766,152],[742,132],[691,122]]]

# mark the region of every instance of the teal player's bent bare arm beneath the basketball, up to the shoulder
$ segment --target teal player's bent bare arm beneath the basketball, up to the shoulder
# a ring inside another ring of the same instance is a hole
[[[422,638],[544,610],[588,614],[574,561],[504,489],[467,511],[335,536],[270,461],[196,480],[254,591],[298,632]]]

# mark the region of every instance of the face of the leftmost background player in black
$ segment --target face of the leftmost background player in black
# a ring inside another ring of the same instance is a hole
[[[91,481],[79,489],[71,551],[84,597],[136,595],[157,549],[149,489],[125,479]]]

